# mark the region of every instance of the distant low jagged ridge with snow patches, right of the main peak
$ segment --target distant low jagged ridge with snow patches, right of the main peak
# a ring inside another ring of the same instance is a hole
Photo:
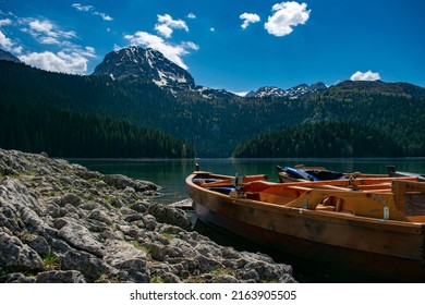
[[[260,87],[256,91],[251,91],[246,95],[246,97],[255,97],[255,98],[289,98],[289,99],[298,99],[300,97],[306,96],[308,94],[323,91],[327,89],[327,86],[319,82],[313,85],[301,84],[299,86],[281,89],[278,87]]]

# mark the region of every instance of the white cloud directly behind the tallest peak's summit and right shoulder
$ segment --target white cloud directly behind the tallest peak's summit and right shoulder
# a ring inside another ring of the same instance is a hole
[[[191,41],[182,42],[181,45],[172,45],[162,37],[146,32],[136,32],[134,35],[125,35],[124,38],[127,39],[131,45],[160,51],[166,58],[186,70],[187,65],[184,63],[182,57],[189,54],[189,49],[197,50],[199,48]]]

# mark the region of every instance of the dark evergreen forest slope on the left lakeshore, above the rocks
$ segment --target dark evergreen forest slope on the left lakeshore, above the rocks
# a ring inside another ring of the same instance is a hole
[[[193,158],[194,148],[158,131],[52,106],[0,100],[0,147],[52,157]]]

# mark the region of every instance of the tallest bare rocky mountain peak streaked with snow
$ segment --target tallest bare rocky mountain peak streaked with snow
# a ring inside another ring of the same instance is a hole
[[[168,88],[195,86],[192,75],[161,52],[136,46],[108,53],[93,74],[109,75],[118,81],[155,83]]]

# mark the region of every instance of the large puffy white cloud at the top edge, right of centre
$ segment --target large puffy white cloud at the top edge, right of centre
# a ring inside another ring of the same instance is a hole
[[[281,37],[292,33],[293,27],[299,24],[305,24],[309,17],[311,10],[306,10],[306,3],[294,1],[282,2],[272,5],[274,14],[268,17],[264,27],[271,35]]]

